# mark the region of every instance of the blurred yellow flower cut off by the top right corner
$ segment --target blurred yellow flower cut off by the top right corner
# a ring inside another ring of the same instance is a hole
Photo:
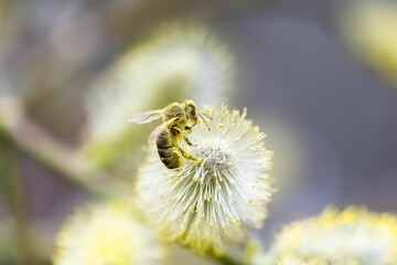
[[[397,2],[355,1],[342,11],[351,50],[397,86]]]

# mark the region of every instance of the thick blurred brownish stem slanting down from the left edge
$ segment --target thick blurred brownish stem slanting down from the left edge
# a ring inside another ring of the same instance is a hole
[[[21,113],[21,110],[9,109],[8,113]],[[4,118],[1,118],[2,116]],[[54,139],[28,117],[20,115],[12,121],[6,118],[7,115],[0,112],[0,134],[4,136],[3,139],[69,182],[93,195],[107,197],[129,192],[129,183],[110,173],[99,171],[85,157]]]

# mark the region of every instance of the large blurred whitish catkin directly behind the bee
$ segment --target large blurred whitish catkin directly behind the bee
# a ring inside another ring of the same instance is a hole
[[[230,92],[234,67],[226,47],[203,26],[172,23],[133,46],[94,84],[87,96],[89,142],[85,147],[101,166],[133,165],[150,134],[125,123],[133,113],[194,98],[207,104]],[[131,171],[128,169],[127,171]]]

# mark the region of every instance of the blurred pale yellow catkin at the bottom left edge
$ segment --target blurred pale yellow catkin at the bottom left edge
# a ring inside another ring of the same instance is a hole
[[[160,264],[164,253],[155,233],[127,202],[90,205],[66,222],[57,236],[54,264]]]

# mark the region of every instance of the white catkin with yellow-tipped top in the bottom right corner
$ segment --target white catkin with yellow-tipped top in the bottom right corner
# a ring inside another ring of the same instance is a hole
[[[320,216],[286,226],[269,253],[273,261],[292,255],[316,265],[397,264],[397,218],[329,208]]]

